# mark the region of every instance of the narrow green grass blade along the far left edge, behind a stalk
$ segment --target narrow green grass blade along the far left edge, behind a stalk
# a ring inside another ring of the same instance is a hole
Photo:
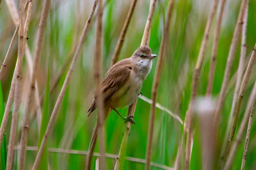
[[[0,82],[0,121],[2,123],[3,120],[3,113],[4,113],[4,105],[3,105],[3,91],[2,91],[2,84]],[[2,165],[2,170],[6,169],[6,155],[7,155],[7,150],[6,150],[6,135],[3,136],[3,143],[1,146],[1,165]]]

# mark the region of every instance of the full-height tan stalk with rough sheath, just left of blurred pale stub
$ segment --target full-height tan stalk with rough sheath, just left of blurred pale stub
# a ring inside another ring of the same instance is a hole
[[[189,108],[186,113],[185,122],[184,123],[184,135],[186,137],[186,151],[185,151],[185,169],[189,169],[190,164],[190,155],[191,155],[191,143],[192,143],[192,127],[193,127],[193,112],[194,112],[194,103],[195,103],[195,96],[198,86],[198,79],[201,71],[201,67],[204,61],[204,53],[207,48],[208,40],[209,40],[209,32],[212,27],[213,18],[215,16],[216,10],[218,7],[218,0],[214,0],[212,3],[212,8],[209,13],[209,17],[207,20],[207,25],[204,31],[203,41],[201,43],[200,51],[198,54],[197,63],[194,70],[193,81],[192,81],[192,90],[191,90],[191,97],[189,102]]]

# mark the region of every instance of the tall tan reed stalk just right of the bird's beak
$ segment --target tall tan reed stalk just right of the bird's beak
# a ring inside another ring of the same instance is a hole
[[[150,169],[153,135],[154,135],[153,134],[154,121],[155,121],[155,112],[156,112],[156,103],[157,103],[157,92],[158,92],[158,86],[159,86],[160,77],[161,77],[162,68],[163,68],[163,58],[165,55],[166,44],[169,37],[169,27],[170,27],[170,21],[172,16],[173,3],[174,3],[174,0],[169,1],[167,17],[166,17],[165,25],[163,28],[163,34],[162,34],[162,39],[160,43],[160,50],[159,50],[159,55],[157,59],[157,68],[154,75],[154,81],[153,81],[153,87],[152,87],[151,98],[153,103],[151,104],[150,116],[149,116],[149,122],[148,122],[148,140],[147,140],[146,165],[145,165],[146,170]]]

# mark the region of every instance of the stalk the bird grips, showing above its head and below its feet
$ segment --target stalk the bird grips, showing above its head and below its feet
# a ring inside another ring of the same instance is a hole
[[[144,29],[144,33],[143,33],[143,37],[142,37],[140,46],[148,45],[147,42],[149,41],[148,36],[150,35],[151,20],[152,20],[153,14],[154,14],[154,9],[155,9],[156,3],[157,3],[157,0],[150,1],[148,19],[147,19],[147,22],[145,25],[145,29]],[[129,107],[128,115],[131,115],[134,117],[134,112],[135,112],[135,108],[137,105],[137,101],[138,101],[138,98],[136,98],[134,103]],[[119,170],[119,169],[122,169],[122,167],[123,167],[125,151],[126,151],[126,146],[127,146],[128,135],[130,133],[130,129],[131,129],[131,122],[127,122],[125,125],[125,133],[122,138],[122,143],[121,143],[120,150],[118,153],[118,158],[116,159],[116,164],[115,164],[114,170]]]

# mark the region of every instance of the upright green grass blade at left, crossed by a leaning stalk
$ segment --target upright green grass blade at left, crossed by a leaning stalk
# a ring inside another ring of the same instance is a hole
[[[50,86],[49,86],[49,60],[48,60],[48,75],[47,75],[47,83],[45,88],[45,95],[44,95],[44,105],[43,105],[43,111],[42,111],[42,121],[41,121],[41,128],[40,128],[40,134],[39,134],[39,140],[38,140],[38,148],[41,145],[42,139],[44,137],[44,133],[47,128],[47,124],[49,121],[49,92],[50,92]],[[44,148],[44,153],[41,159],[41,163],[39,164],[38,170],[48,170],[48,145],[46,144]]]

